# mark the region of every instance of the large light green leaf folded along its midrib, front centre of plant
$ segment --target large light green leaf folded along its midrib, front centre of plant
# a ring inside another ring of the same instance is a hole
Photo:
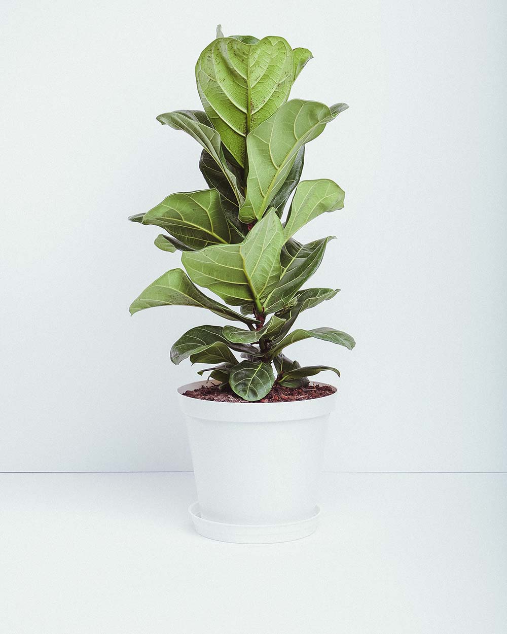
[[[262,301],[279,279],[282,243],[283,228],[271,210],[240,245],[214,245],[184,253],[181,262],[199,286],[232,306],[253,301],[260,312]]]

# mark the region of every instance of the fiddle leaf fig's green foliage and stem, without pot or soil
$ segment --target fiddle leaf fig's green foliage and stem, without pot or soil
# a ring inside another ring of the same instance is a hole
[[[263,399],[275,383],[301,387],[326,370],[340,376],[330,366],[301,366],[285,356],[288,346],[309,338],[349,350],[355,345],[335,328],[293,328],[302,311],[339,290],[302,288],[335,236],[307,244],[294,238],[320,214],[343,209],[345,197],[330,179],[300,180],[305,145],[347,108],[289,99],[311,58],[308,49],[292,49],[283,37],[224,37],[217,29],[195,67],[204,110],[157,117],[202,146],[199,169],[208,188],[173,193],[129,218],[162,229],[155,246],[180,251],[184,268],[172,268],[146,287],[131,314],[153,306],[196,306],[239,323],[191,328],[172,346],[170,358],[206,364],[200,375],[210,372],[220,389],[246,401]]]

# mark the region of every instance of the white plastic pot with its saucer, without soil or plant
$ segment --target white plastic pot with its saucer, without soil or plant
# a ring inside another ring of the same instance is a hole
[[[288,403],[221,403],[184,396],[198,501],[189,513],[205,537],[238,543],[297,540],[317,527],[330,396]]]

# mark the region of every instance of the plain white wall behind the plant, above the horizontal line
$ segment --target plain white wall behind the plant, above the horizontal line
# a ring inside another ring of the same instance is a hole
[[[169,349],[220,321],[129,316],[179,257],[126,217],[204,186],[155,116],[200,107],[217,22],[310,48],[292,96],[350,105],[304,171],[347,192],[301,234],[338,236],[311,285],[342,288],[302,325],[357,339],[297,344],[342,371],[326,469],[506,470],[506,4],[251,7],[4,0],[0,470],[191,469]]]

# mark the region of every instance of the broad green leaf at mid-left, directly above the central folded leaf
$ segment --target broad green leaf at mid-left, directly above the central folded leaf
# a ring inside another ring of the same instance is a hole
[[[190,249],[243,240],[229,224],[217,190],[171,194],[144,214],[143,224],[162,227]]]

